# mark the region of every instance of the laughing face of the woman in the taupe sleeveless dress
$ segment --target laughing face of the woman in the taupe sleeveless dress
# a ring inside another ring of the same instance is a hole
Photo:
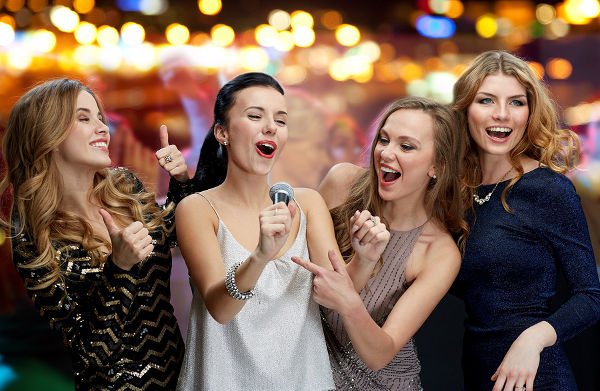
[[[436,172],[434,157],[431,116],[414,109],[393,112],[381,128],[373,150],[379,196],[385,201],[424,198]]]

